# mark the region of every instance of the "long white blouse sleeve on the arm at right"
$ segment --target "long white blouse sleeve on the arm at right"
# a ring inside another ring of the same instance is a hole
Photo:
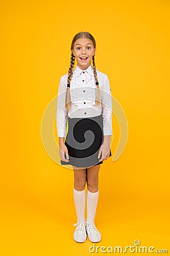
[[[103,113],[103,133],[104,135],[112,135],[112,96],[107,75],[105,75],[103,90],[101,90],[101,106]]]

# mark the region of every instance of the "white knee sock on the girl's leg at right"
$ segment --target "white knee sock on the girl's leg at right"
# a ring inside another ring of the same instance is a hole
[[[95,223],[95,214],[97,201],[99,198],[99,189],[97,192],[90,192],[87,189],[87,222]]]

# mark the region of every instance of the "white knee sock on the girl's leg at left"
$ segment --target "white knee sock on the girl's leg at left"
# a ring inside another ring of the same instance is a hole
[[[74,188],[74,203],[76,209],[77,223],[85,223],[84,209],[85,209],[85,188],[78,191]]]

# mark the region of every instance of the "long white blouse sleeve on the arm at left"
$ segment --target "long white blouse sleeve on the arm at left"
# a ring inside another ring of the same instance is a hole
[[[65,108],[66,98],[66,83],[63,82],[63,77],[59,81],[58,98],[57,98],[57,134],[58,137],[66,135],[68,112]]]

